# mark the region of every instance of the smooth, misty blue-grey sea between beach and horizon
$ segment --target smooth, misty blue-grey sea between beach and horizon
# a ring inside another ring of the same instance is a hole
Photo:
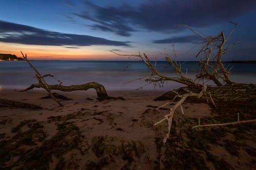
[[[171,90],[184,86],[176,82],[165,82],[163,85],[148,84],[145,78],[148,68],[142,61],[31,61],[48,84],[80,85],[98,82],[107,90]],[[177,73],[165,61],[157,61],[161,74],[178,77]],[[195,78],[198,62],[179,62],[184,75]],[[224,62],[230,70],[230,79],[236,83],[256,84],[256,64]],[[36,72],[26,61],[0,62],[0,89],[24,89],[38,83]],[[211,84],[211,83],[210,83]]]

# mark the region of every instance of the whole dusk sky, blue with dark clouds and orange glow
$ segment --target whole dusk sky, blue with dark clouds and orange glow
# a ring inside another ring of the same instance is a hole
[[[0,53],[36,60],[128,60],[146,53],[196,61],[203,36],[236,43],[223,60],[256,60],[256,0],[1,0]]]

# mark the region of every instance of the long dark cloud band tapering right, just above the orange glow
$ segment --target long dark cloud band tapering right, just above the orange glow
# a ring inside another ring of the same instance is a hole
[[[129,42],[112,41],[89,35],[64,34],[35,27],[0,21],[0,41],[33,45],[91,46],[111,45],[130,46]]]

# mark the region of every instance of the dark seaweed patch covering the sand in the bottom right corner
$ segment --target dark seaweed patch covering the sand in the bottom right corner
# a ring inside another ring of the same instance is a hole
[[[215,116],[202,118],[201,124],[236,121],[236,113],[240,113],[242,120],[256,119],[255,109],[255,102],[217,102],[217,108],[212,109]],[[162,143],[162,137],[155,138],[156,170],[255,168],[255,164],[248,162],[256,159],[256,123],[192,129],[195,125],[197,119],[177,116],[166,144]],[[164,136],[166,132],[160,131]]]

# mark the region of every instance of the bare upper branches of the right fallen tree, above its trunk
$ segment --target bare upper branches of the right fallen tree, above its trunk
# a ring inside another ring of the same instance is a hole
[[[148,67],[149,72],[145,78],[145,81],[148,83],[160,83],[162,84],[165,81],[174,81],[189,87],[198,88],[201,89],[204,85],[204,81],[213,81],[217,86],[221,85],[233,85],[234,82],[232,82],[229,79],[229,71],[228,68],[225,68],[223,63],[221,62],[222,54],[226,53],[228,49],[235,44],[228,45],[225,47],[226,41],[229,39],[231,34],[236,30],[238,24],[235,24],[234,29],[230,32],[230,34],[225,37],[223,32],[220,32],[220,34],[217,34],[216,36],[202,36],[201,34],[197,33],[187,25],[182,25],[188,29],[190,29],[193,33],[195,33],[197,36],[202,38],[205,41],[205,44],[203,47],[199,50],[199,52],[196,55],[196,58],[199,56],[199,68],[200,71],[197,73],[195,79],[190,79],[185,76],[185,74],[181,70],[181,65],[177,62],[177,56],[175,53],[175,50],[173,50],[173,57],[170,55],[165,55],[165,60],[168,62],[168,64],[176,71],[177,75],[179,77],[169,77],[164,74],[161,74],[157,68],[156,65],[154,65],[149,57],[143,53],[141,55],[140,53],[135,55],[122,55],[118,54],[114,51],[111,51],[113,53],[116,53],[121,56],[136,56],[139,57]],[[174,45],[173,45],[174,48]],[[203,59],[202,57],[203,56]],[[200,80],[203,80],[203,82],[200,82]],[[223,84],[222,82],[225,84]]]

